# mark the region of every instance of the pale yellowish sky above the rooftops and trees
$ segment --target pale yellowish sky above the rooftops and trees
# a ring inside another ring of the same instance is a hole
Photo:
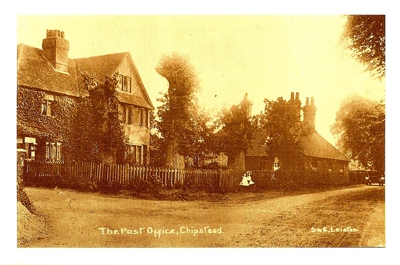
[[[155,67],[162,54],[189,56],[201,80],[200,104],[211,112],[245,93],[263,99],[299,92],[314,97],[316,130],[334,144],[330,125],[349,94],[382,99],[384,80],[338,46],[340,16],[18,16],[17,44],[41,49],[46,29],[65,32],[69,57],[130,52],[154,106],[168,83]]]

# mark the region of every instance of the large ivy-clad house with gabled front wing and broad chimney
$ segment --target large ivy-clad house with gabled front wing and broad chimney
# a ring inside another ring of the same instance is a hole
[[[17,45],[17,148],[26,158],[62,162],[68,119],[80,97],[87,95],[78,84],[80,72],[105,75],[118,73],[119,119],[128,139],[134,163],[149,162],[149,111],[153,105],[128,52],[68,58],[69,42],[64,33],[47,30],[42,49]]]

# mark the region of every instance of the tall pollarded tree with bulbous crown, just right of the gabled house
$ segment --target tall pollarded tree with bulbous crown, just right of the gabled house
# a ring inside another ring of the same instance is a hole
[[[158,107],[157,128],[165,140],[165,165],[183,168],[184,157],[198,137],[199,81],[188,58],[175,53],[162,56],[156,71],[169,83],[168,93],[157,99],[163,103]]]

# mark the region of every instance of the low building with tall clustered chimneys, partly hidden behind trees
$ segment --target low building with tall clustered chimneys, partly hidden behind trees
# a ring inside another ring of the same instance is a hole
[[[294,98],[291,93],[290,100],[287,103],[295,109],[298,122],[308,125],[310,132],[300,136],[300,147],[302,149],[302,160],[292,161],[290,168],[292,172],[286,172],[297,181],[302,183],[325,183],[325,184],[344,184],[348,183],[348,158],[339,150],[326,141],[315,130],[315,112],[314,99],[309,101],[306,98],[305,105],[301,108],[301,102],[298,99],[298,92]],[[303,120],[300,121],[300,114],[303,112]],[[266,132],[261,130],[256,133],[252,140],[251,147],[245,152],[246,170],[278,170],[279,158],[274,161],[265,152]],[[274,174],[271,174],[271,178]]]

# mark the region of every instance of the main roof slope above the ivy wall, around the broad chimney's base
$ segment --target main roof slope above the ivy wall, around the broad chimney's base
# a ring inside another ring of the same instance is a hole
[[[68,73],[56,71],[43,50],[17,45],[17,85],[78,97],[75,62],[68,59]]]

